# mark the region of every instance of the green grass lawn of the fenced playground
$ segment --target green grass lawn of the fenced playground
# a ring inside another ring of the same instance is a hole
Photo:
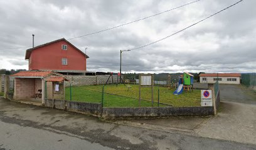
[[[106,85],[104,87],[105,107],[138,107],[139,106],[139,86],[130,84],[131,88],[123,84]],[[200,106],[200,90],[183,91],[178,96],[174,95],[175,89],[159,87],[159,101],[161,107],[164,106]],[[158,87],[154,87],[154,106],[157,106]],[[66,99],[70,100],[70,88],[66,88]],[[150,107],[151,88],[142,88],[141,107]],[[90,103],[101,103],[102,85],[99,86],[78,86],[72,87],[72,101],[85,101]]]

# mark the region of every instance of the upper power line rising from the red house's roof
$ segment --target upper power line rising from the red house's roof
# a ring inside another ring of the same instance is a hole
[[[132,24],[132,23],[134,23],[134,22],[142,21],[142,20],[147,19],[147,18],[149,18],[149,17],[154,17],[154,16],[157,16],[157,15],[159,15],[159,14],[163,14],[163,13],[165,13],[165,12],[173,11],[174,9],[182,8],[182,7],[184,7],[184,6],[187,6],[187,5],[189,5],[189,4],[193,4],[193,3],[198,2],[198,1],[201,1],[201,0],[196,0],[196,1],[193,1],[193,2],[188,2],[188,3],[186,3],[186,4],[183,4],[183,5],[181,5],[181,6],[178,6],[178,7],[176,7],[176,8],[172,8],[172,9],[169,9],[169,10],[167,10],[167,11],[159,12],[159,13],[153,14],[153,15],[151,15],[151,16],[143,17],[143,18],[137,19],[137,20],[135,20],[135,21],[131,21],[131,22],[127,22],[127,23],[124,23],[124,24],[120,24],[119,26],[110,27],[110,28],[107,28],[107,29],[103,29],[103,30],[96,31],[96,32],[91,32],[91,33],[85,34],[85,35],[83,35],[83,36],[72,37],[72,38],[69,38],[69,39],[77,39],[77,38],[84,37],[84,36],[90,36],[90,35],[92,35],[92,34],[97,34],[97,33],[99,33],[99,32],[104,32],[104,31],[108,31],[108,30],[111,30],[111,29],[115,29],[115,28],[117,28],[117,27],[125,26],[125,25],[127,25],[127,24]]]

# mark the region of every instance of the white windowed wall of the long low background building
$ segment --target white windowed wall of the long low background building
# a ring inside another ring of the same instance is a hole
[[[206,81],[203,81],[203,78],[206,78]],[[216,81],[213,81],[213,78],[217,77],[201,77],[200,76],[200,83],[216,83]],[[221,78],[221,81],[219,81],[220,84],[240,84],[240,77],[218,77]],[[236,78],[237,81],[228,81],[228,78]]]

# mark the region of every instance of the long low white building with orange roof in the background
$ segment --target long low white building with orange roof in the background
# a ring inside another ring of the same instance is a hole
[[[240,84],[239,73],[211,73],[200,74],[200,83]]]

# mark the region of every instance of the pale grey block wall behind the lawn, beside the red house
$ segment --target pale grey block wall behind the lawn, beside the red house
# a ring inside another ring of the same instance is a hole
[[[105,84],[109,75],[96,75],[96,76],[68,76],[69,82],[65,86],[90,86]],[[119,80],[118,80],[119,81]],[[113,82],[117,83],[117,75],[113,75]],[[109,78],[108,84],[112,83],[112,78]]]

